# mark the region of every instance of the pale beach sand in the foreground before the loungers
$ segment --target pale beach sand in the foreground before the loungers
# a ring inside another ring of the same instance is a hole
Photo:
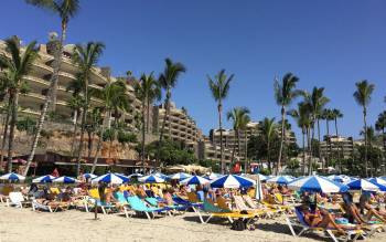
[[[255,231],[233,231],[225,221],[201,224],[193,212],[160,218],[125,218],[68,210],[49,213],[0,204],[0,242],[15,241],[331,241],[323,234],[293,238],[283,218],[259,220]],[[385,232],[368,242],[385,241]]]

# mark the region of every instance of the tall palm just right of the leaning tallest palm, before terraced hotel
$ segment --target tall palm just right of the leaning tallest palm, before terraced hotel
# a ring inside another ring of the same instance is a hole
[[[100,42],[88,42],[87,44],[77,44],[74,49],[73,62],[78,66],[78,81],[83,84],[82,86],[82,95],[84,97],[84,105],[82,112],[82,120],[81,120],[81,140],[79,148],[77,155],[77,176],[81,171],[81,158],[82,158],[82,149],[83,141],[85,135],[85,125],[88,112],[88,104],[90,95],[88,93],[89,77],[92,74],[93,67],[98,63],[98,60],[105,49],[105,45]]]

